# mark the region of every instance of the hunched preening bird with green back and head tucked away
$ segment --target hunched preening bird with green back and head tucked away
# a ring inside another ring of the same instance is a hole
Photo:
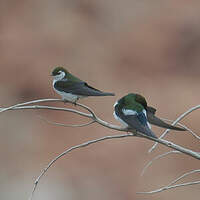
[[[142,95],[129,93],[114,104],[113,115],[115,119],[120,121],[126,128],[134,129],[153,138],[157,138],[157,136],[151,130],[150,124],[173,130],[186,130],[165,123],[160,118],[156,117],[155,113],[156,109],[147,106],[146,99]]]

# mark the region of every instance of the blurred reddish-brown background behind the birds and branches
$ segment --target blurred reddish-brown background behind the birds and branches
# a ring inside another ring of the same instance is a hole
[[[129,92],[144,95],[157,115],[176,119],[199,104],[200,1],[168,0],[13,0],[0,1],[0,106],[58,98],[50,73],[63,65],[74,75],[115,97],[81,100],[102,119],[116,123],[114,102]],[[44,104],[43,104],[44,105]],[[47,103],[45,104],[47,105]],[[63,104],[48,104],[67,106]],[[59,153],[112,131],[93,124],[57,127],[87,119],[55,111],[10,111],[0,116],[0,199],[28,199],[35,178]],[[199,133],[199,111],[183,123]],[[164,130],[153,127],[156,135]],[[166,139],[199,150],[188,133]],[[154,195],[198,161],[169,155],[140,176],[145,164],[168,148],[124,138],[76,150],[57,161],[38,184],[34,199],[198,199],[199,185]],[[194,175],[186,181],[198,179]]]

